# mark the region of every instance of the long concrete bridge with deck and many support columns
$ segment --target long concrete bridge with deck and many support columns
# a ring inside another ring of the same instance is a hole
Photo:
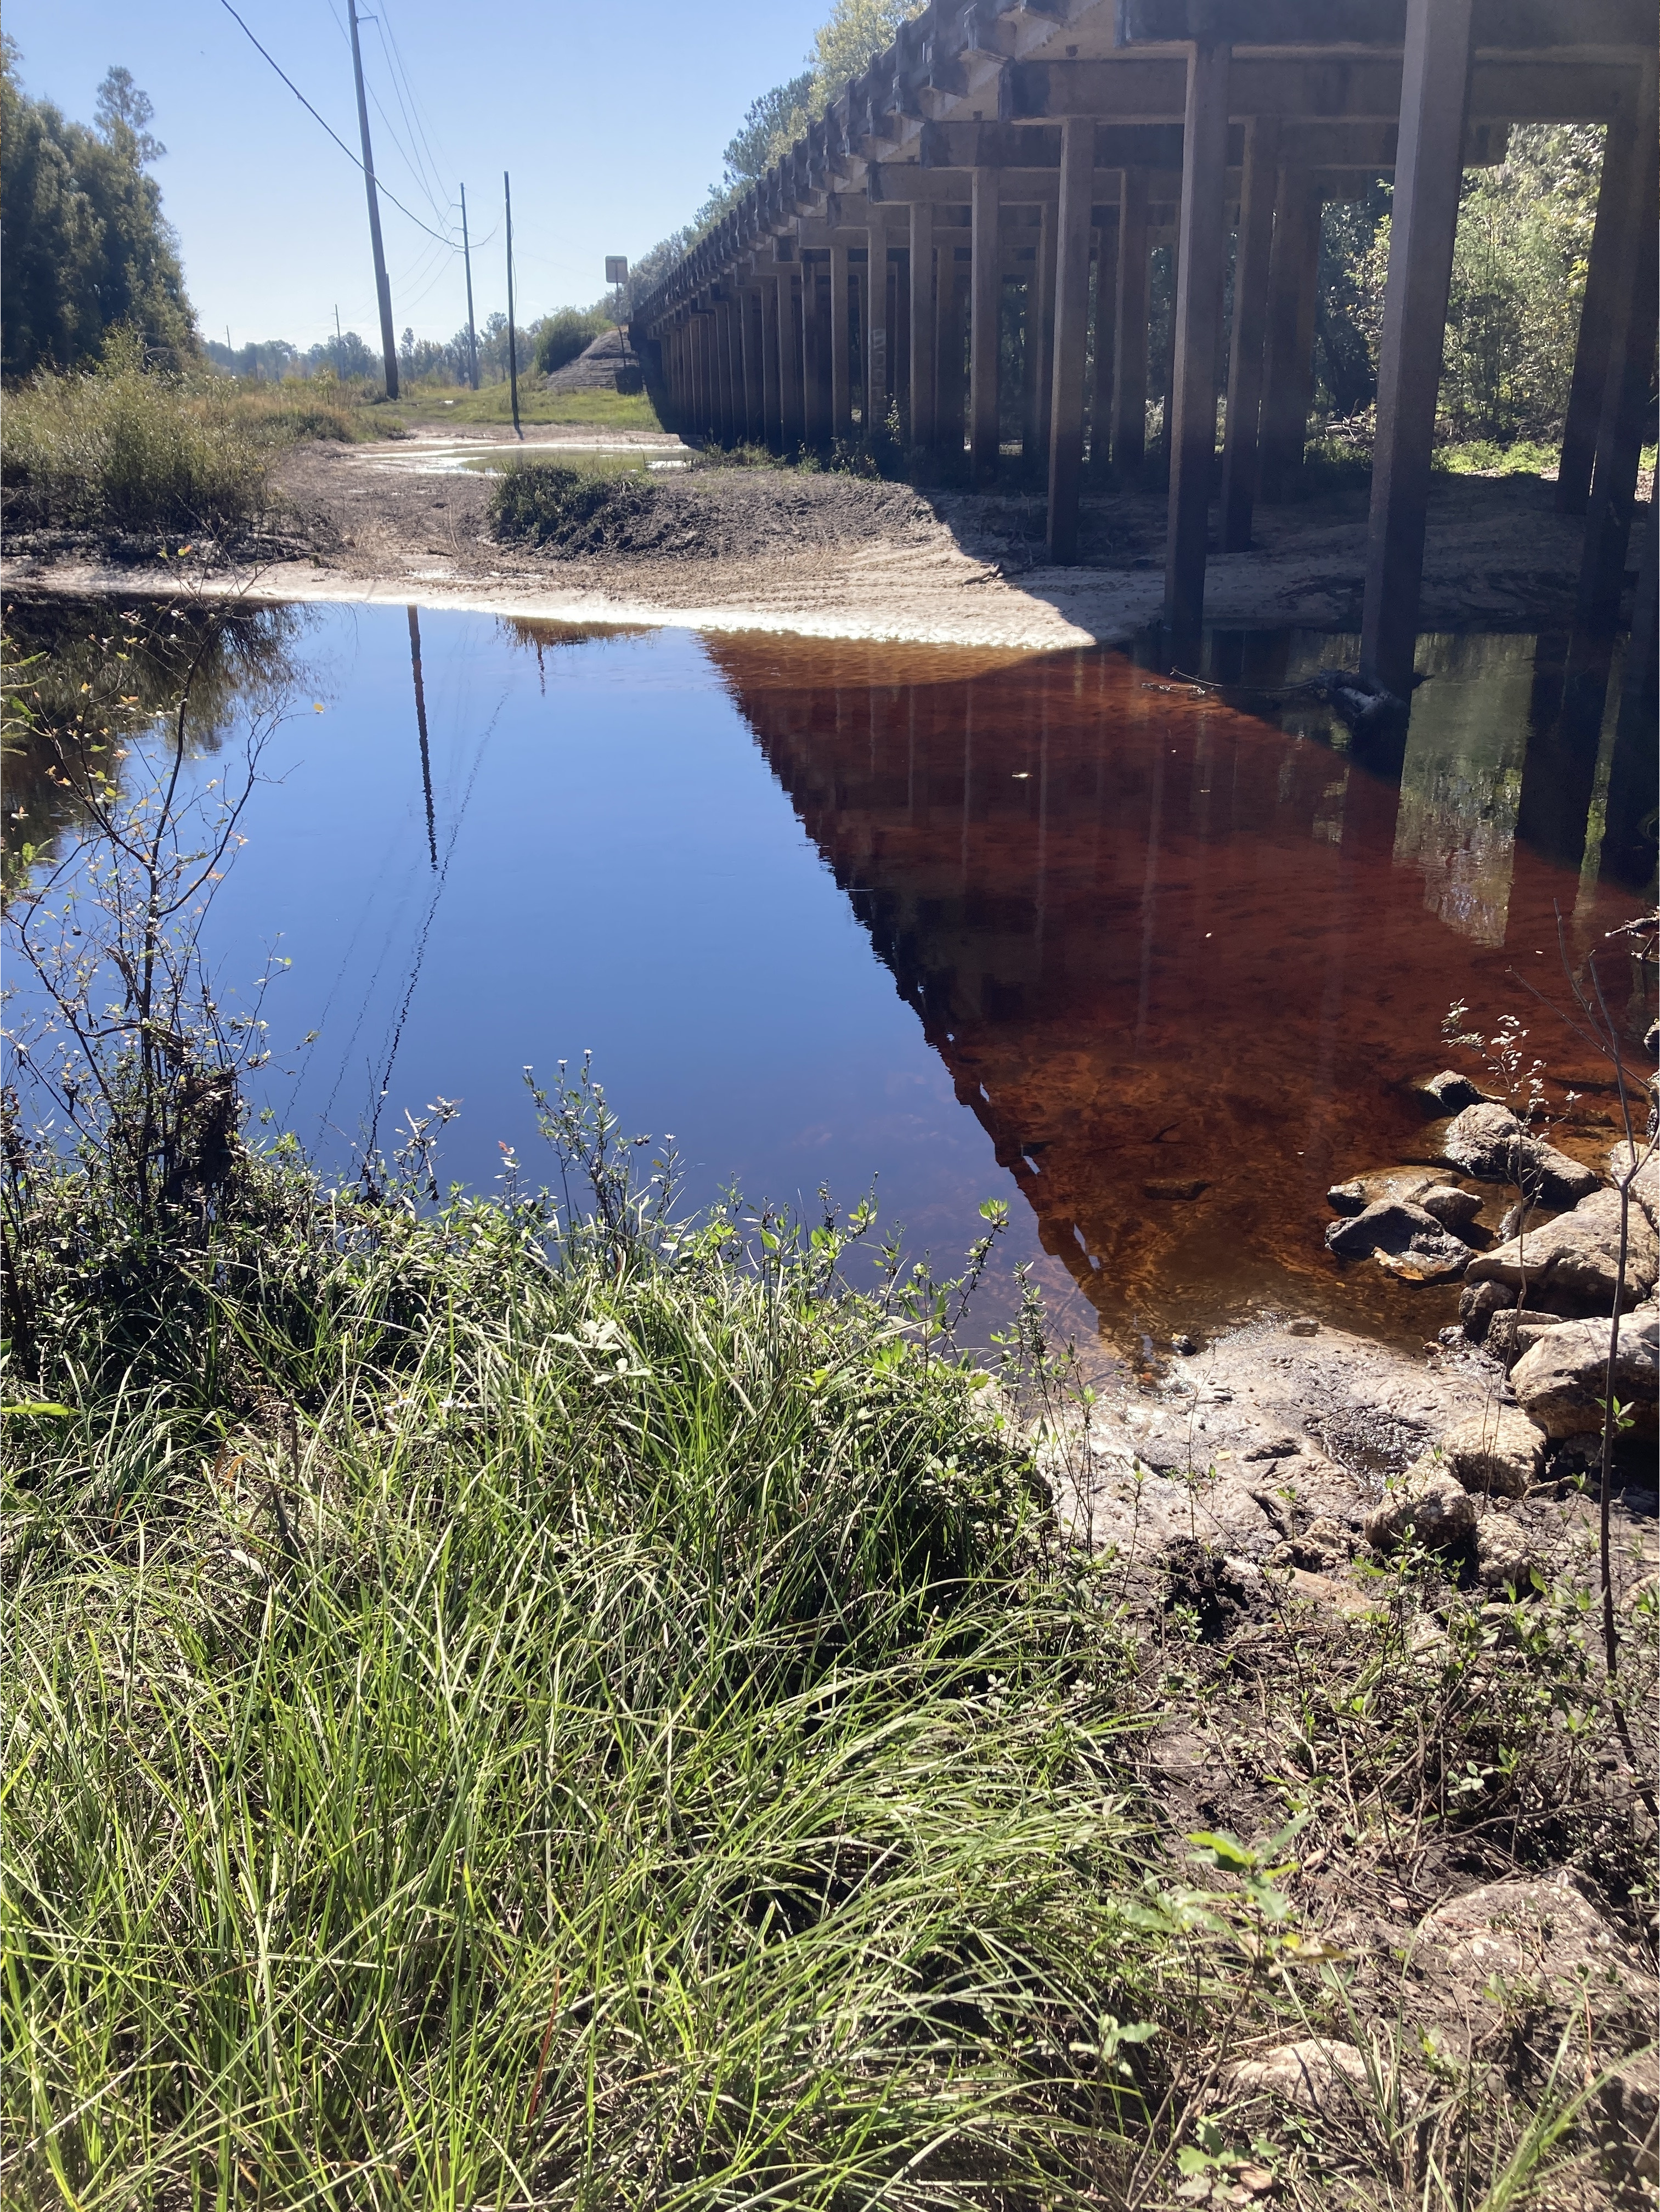
[[[1412,679],[1459,179],[1521,122],[1605,124],[1558,502],[1585,513],[1580,619],[1614,626],[1656,358],[1651,0],[930,0],[633,314],[666,420],[828,449],[899,411],[921,465],[998,471],[998,334],[1020,285],[1027,451],[1049,557],[1087,467],[1142,462],[1149,252],[1175,250],[1164,619],[1301,465],[1319,217],[1394,177],[1363,670]],[[1653,650],[1653,502],[1638,626]]]

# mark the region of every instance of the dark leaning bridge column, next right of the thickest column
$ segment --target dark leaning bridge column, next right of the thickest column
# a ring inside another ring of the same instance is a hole
[[[1591,498],[1585,509],[1585,551],[1574,615],[1591,630],[1611,630],[1620,617],[1625,564],[1631,549],[1642,422],[1653,389],[1656,307],[1656,80],[1645,71],[1638,102],[1638,170],[1631,217],[1622,239],[1622,281],[1616,294],[1614,345],[1596,429]],[[1653,732],[1649,732],[1653,734]]]

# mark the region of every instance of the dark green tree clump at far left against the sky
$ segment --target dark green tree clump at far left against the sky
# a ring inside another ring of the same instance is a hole
[[[179,250],[146,166],[166,150],[126,69],[97,91],[97,124],[66,122],[18,84],[18,49],[0,40],[0,374],[71,369],[133,325],[151,361],[197,358]]]

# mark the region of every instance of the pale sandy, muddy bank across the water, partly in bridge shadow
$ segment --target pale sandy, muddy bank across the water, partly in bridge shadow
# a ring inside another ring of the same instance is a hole
[[[662,434],[538,431],[527,445],[549,458],[642,453],[655,471],[629,529],[544,551],[489,535],[491,478],[463,467],[489,445],[511,436],[423,431],[392,447],[294,449],[279,471],[286,542],[252,549],[212,588],[1007,650],[1122,644],[1162,602],[1162,493],[1087,498],[1085,562],[1049,568],[1036,498],[916,493],[788,469],[679,473],[691,456]],[[297,557],[301,538],[310,553]],[[11,580],[133,591],[177,575],[155,564],[151,577],[137,553],[108,560],[86,546],[15,544]],[[1439,478],[1421,626],[1563,624],[1578,553],[1580,526],[1556,515],[1547,482]],[[1228,626],[1355,628],[1363,564],[1361,489],[1259,509],[1255,549],[1211,560],[1206,615]]]

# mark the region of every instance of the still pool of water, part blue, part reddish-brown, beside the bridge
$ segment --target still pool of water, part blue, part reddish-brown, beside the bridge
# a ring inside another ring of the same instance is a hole
[[[452,1177],[489,1188],[502,1146],[536,1177],[520,1071],[591,1051],[693,1201],[812,1217],[874,1179],[950,1263],[1007,1197],[1067,1325],[1129,1349],[1452,1316],[1321,1241],[1332,1179],[1423,1157],[1405,1086],[1452,1000],[1518,1011],[1585,1091],[1558,1141],[1609,1141],[1602,1071],[1525,984],[1567,998],[1558,911],[1583,958],[1642,905],[1653,765],[1563,641],[1425,639],[1410,730],[1363,743],[1299,688],[1352,657],[1315,635],[1213,637],[1217,695],[1107,650],[248,619],[270,666],[237,668],[288,714],[210,951],[226,1004],[292,962],[259,1104],[332,1168],[445,1097]],[[27,606],[9,628],[27,650]],[[11,790],[46,838],[27,748]],[[1605,982],[1640,1035],[1645,980]]]

